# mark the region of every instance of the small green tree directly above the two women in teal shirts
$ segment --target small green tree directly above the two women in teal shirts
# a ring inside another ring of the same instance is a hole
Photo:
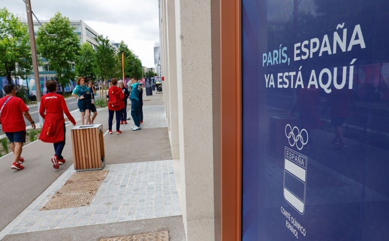
[[[84,43],[80,48],[80,56],[75,62],[75,73],[77,76],[83,76],[87,81],[96,79],[96,53],[92,46]]]

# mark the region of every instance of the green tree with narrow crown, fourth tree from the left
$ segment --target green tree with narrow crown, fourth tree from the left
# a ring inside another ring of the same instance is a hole
[[[106,81],[107,78],[111,78],[118,73],[121,73],[118,69],[118,57],[115,57],[115,50],[109,44],[108,37],[99,35],[95,37],[98,46],[96,47],[96,58],[98,66],[99,76]]]

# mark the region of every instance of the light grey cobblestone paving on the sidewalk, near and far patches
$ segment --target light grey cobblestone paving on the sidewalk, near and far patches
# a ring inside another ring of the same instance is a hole
[[[167,127],[164,105],[144,106],[143,111],[147,115],[147,122],[145,121],[142,128]],[[80,119],[78,111],[73,111],[72,115],[76,120]],[[130,117],[130,110],[128,117]],[[129,122],[133,124],[132,121]],[[131,124],[121,125],[121,130],[130,130],[133,126]],[[8,234],[181,215],[173,160],[110,164],[105,165],[104,170],[108,171],[108,174],[89,206],[42,209],[76,173],[74,166],[71,165],[0,232],[0,239]],[[143,233],[146,236],[148,234],[151,235],[151,233]],[[142,234],[139,235],[142,237]],[[150,235],[147,237],[152,238],[153,236]],[[164,236],[166,233],[158,233],[154,237],[158,235]],[[130,236],[132,239],[117,240],[141,240],[135,238],[137,236],[134,234]]]

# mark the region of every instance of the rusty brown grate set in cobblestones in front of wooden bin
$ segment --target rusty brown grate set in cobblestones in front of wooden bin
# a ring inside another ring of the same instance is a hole
[[[89,206],[108,170],[76,172],[40,211]]]

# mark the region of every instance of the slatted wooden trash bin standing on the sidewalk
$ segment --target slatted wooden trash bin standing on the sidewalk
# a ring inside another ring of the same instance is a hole
[[[101,170],[105,166],[103,126],[85,125],[71,129],[76,171]]]

